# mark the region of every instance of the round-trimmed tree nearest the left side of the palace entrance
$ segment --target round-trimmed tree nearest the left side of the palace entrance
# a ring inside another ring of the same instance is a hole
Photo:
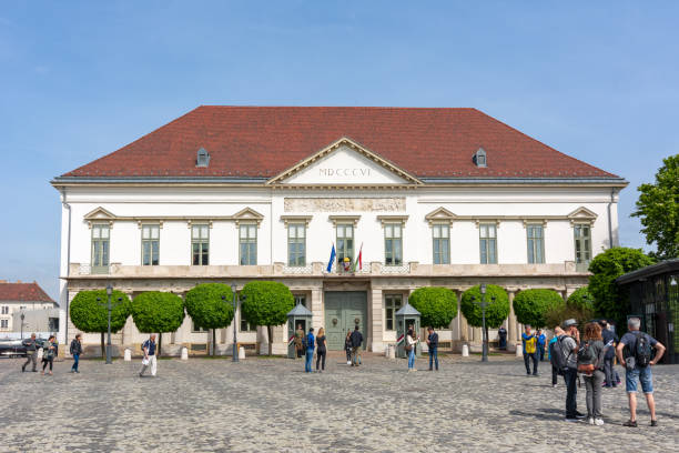
[[[241,313],[251,324],[266,325],[268,355],[271,355],[273,326],[287,321],[287,312],[295,306],[295,298],[283,283],[267,281],[246,283],[242,294],[245,300],[241,302]]]

